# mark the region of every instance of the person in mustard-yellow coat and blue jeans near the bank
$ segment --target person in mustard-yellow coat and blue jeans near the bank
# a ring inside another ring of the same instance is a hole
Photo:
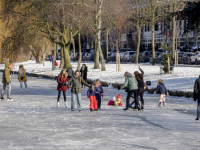
[[[27,87],[27,78],[26,78],[26,70],[24,69],[23,65],[19,66],[19,71],[18,71],[18,80],[20,82],[20,88],[22,92],[22,84],[24,82],[24,85],[26,87],[26,91],[28,92],[28,87]]]

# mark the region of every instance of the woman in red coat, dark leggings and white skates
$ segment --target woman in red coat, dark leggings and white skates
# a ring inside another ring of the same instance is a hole
[[[66,91],[67,91],[67,84],[66,82],[68,81],[67,78],[67,72],[65,71],[65,69],[62,69],[62,71],[60,72],[60,74],[58,75],[57,78],[57,82],[58,82],[58,98],[57,98],[57,107],[59,107],[59,100],[60,100],[60,96],[61,96],[61,92],[63,91],[63,96],[64,96],[64,103],[65,103],[65,107],[67,108],[67,99],[66,99]]]

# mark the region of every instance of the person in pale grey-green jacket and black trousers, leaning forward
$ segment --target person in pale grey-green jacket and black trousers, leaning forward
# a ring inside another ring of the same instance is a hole
[[[118,88],[118,90],[123,89],[125,87],[128,87],[128,95],[126,98],[126,108],[124,109],[125,111],[129,109],[130,107],[130,97],[132,96],[132,94],[134,93],[134,99],[135,99],[135,107],[136,109],[140,110],[140,105],[138,102],[138,82],[135,79],[135,77],[133,77],[133,75],[129,72],[125,72],[124,73],[125,76],[125,83]]]

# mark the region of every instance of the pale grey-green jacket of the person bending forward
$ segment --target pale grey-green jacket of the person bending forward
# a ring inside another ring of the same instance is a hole
[[[120,89],[128,87],[128,90],[136,90],[138,89],[138,82],[135,77],[132,77],[131,74],[128,74],[125,83],[120,87]]]

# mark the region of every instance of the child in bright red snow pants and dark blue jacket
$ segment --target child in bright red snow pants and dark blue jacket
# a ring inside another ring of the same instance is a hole
[[[96,100],[96,93],[97,93],[97,82],[94,82],[92,84],[92,87],[88,89],[87,91],[87,96],[88,98],[90,98],[90,111],[93,111],[93,108],[94,108],[94,111],[98,111],[97,109],[97,100]]]

